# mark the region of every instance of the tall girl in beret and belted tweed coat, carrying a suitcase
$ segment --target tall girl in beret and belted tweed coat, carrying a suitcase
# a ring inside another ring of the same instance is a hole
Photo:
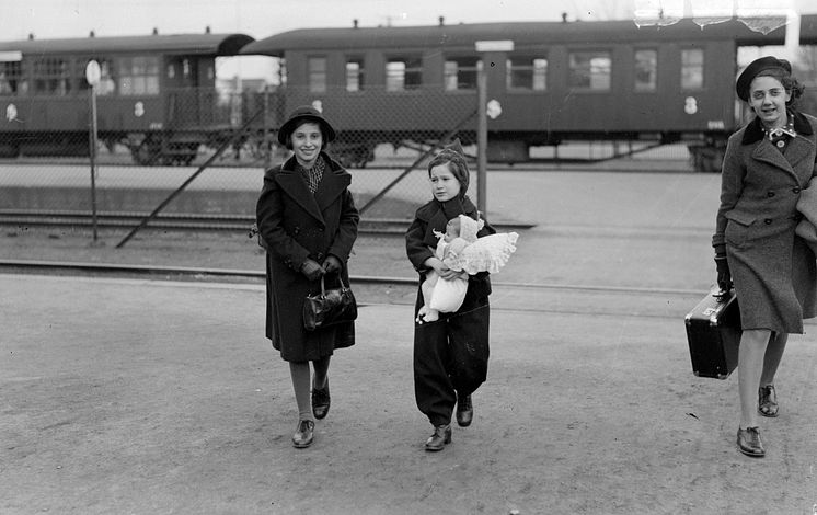
[[[795,234],[796,205],[816,172],[817,118],[793,108],[803,87],[791,72],[789,61],[761,57],[737,80],[756,117],[727,144],[712,239],[718,286],[734,282],[740,307],[737,445],[755,457],[766,454],[758,413],[778,416],[774,376],[789,333],[817,314],[815,255]]]

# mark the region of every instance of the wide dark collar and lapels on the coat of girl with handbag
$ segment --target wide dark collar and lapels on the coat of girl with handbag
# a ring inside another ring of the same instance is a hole
[[[280,165],[275,178],[287,195],[312,217],[325,224],[322,211],[352,184],[352,175],[326,153],[321,152],[321,157],[326,162],[326,170],[314,195],[309,192],[301,174],[296,171],[295,156]]]

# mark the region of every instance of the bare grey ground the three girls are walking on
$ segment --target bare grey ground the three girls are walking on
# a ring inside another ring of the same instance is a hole
[[[332,410],[298,450],[261,285],[0,274],[0,291],[3,514],[812,514],[817,503],[812,323],[790,343],[758,460],[735,448],[737,378],[691,374],[693,295],[497,286],[474,424],[428,454],[411,291],[361,286],[358,343],[334,357]]]

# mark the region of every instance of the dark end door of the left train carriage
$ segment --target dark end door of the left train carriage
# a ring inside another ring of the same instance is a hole
[[[171,56],[168,58],[166,69],[166,119],[170,127],[199,126],[198,62],[191,56]]]

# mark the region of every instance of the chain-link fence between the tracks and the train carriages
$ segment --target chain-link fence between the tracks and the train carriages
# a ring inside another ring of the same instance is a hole
[[[329,153],[353,173],[366,218],[410,219],[430,198],[428,158],[453,138],[461,139],[475,175],[475,94],[366,93],[186,89],[150,101],[97,96],[93,159],[90,101],[0,96],[15,122],[13,130],[0,125],[0,214],[88,213],[92,198],[101,214],[147,214],[198,172],[163,213],[252,217],[263,170],[287,157],[277,128],[302,104],[319,107],[337,129]],[[530,157],[603,160],[645,145],[582,142],[532,148]],[[688,154],[676,147],[658,159],[683,163]],[[469,192],[476,201],[475,192],[476,176]]]

